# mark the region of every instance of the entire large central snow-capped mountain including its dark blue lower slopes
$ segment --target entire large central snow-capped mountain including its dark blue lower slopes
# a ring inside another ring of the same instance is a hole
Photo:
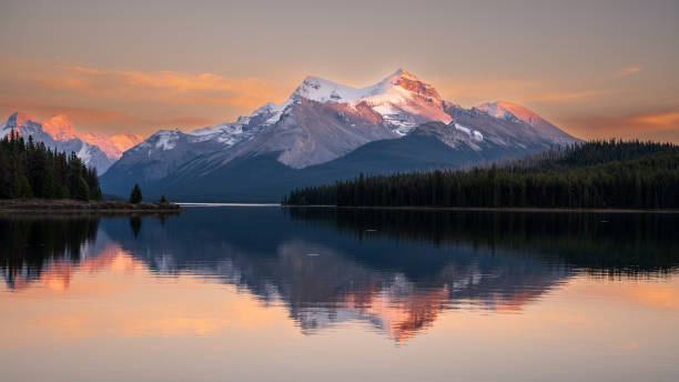
[[[361,89],[307,77],[283,103],[235,122],[161,130],[101,181],[121,195],[138,182],[151,198],[278,201],[292,188],[359,172],[456,168],[577,141],[519,105],[445,101],[398,69]]]

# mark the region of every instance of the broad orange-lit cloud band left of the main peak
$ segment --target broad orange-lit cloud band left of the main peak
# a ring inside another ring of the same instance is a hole
[[[0,68],[0,113],[68,114],[81,132],[193,129],[235,120],[290,89],[210,72],[110,70],[11,58]]]

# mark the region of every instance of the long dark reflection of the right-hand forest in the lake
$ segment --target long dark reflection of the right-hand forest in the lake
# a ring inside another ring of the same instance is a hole
[[[286,210],[295,221],[324,222],[359,240],[384,237],[514,251],[598,274],[666,273],[679,265],[679,219],[671,213]]]

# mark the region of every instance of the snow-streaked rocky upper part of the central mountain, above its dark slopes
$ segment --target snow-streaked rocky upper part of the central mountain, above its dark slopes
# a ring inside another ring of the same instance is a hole
[[[525,114],[516,105],[509,108],[501,102],[464,109],[444,101],[436,89],[403,69],[366,88],[307,77],[280,104],[268,102],[233,122],[186,133],[159,132],[119,163],[124,162],[121,169],[148,163],[143,172],[149,179],[160,179],[171,173],[173,165],[190,161],[182,172],[205,173],[237,158],[265,154],[275,154],[290,168],[303,169],[376,140],[408,135],[427,122],[445,127],[435,134],[444,143],[477,152],[488,148],[509,152],[574,141],[546,121],[534,125],[509,110]]]

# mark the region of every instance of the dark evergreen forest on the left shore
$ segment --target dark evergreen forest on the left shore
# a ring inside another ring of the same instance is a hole
[[[0,199],[101,200],[94,168],[14,131],[0,141]]]

